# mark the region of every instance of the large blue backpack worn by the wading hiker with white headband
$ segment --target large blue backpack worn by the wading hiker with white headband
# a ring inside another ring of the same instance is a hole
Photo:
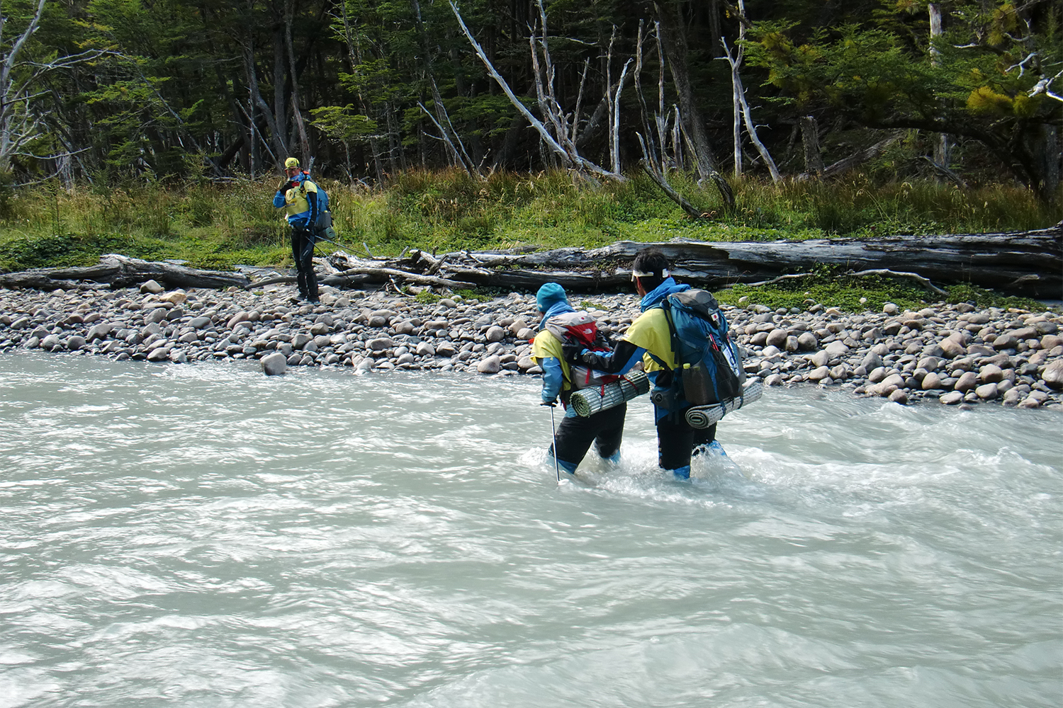
[[[682,401],[707,405],[741,394],[745,381],[742,355],[712,293],[684,290],[665,296],[658,307],[668,321],[676,368],[663,380],[658,377],[659,391],[651,397],[654,403],[677,411],[685,408]]]

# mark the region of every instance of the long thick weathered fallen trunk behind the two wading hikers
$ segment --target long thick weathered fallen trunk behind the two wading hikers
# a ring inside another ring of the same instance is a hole
[[[854,271],[902,271],[938,283],[972,283],[1029,297],[1063,296],[1063,224],[1025,232],[895,236],[862,241],[622,241],[590,251],[460,252],[433,257],[431,263],[443,261],[442,270],[450,277],[480,286],[534,289],[554,281],[567,289],[594,292],[624,287],[636,254],[651,246],[672,261],[678,278],[705,288],[769,280],[829,264]],[[420,252],[410,252],[396,267],[421,270],[423,258]]]

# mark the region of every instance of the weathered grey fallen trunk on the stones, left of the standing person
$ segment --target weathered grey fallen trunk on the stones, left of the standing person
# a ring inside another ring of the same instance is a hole
[[[118,254],[100,257],[96,265],[85,267],[47,267],[20,273],[0,274],[0,286],[5,288],[35,288],[38,290],[69,290],[81,281],[101,282],[112,288],[130,288],[148,280],[155,280],[165,288],[210,288],[231,286],[242,288],[249,279],[242,273],[201,271],[195,267],[128,258]]]

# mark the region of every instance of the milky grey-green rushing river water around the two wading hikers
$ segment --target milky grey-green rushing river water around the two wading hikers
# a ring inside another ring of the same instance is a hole
[[[0,707],[1063,698],[1063,417],[771,390],[558,485],[539,382],[0,358]]]

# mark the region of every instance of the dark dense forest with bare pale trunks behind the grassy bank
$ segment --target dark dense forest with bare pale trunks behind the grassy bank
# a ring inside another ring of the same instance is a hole
[[[417,169],[1060,191],[1054,0],[2,0],[0,198]],[[727,198],[724,198],[727,203]],[[732,202],[731,202],[732,203]]]

